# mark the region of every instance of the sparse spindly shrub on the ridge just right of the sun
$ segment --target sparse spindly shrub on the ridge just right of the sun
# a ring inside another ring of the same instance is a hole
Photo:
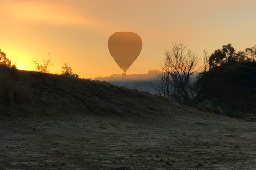
[[[51,62],[51,55],[48,53],[49,59],[47,61],[44,60],[43,57],[40,57],[40,62],[38,61],[32,61],[33,64],[36,66],[36,70],[40,73],[49,73],[53,69],[53,63]],[[43,62],[42,62],[43,60]]]

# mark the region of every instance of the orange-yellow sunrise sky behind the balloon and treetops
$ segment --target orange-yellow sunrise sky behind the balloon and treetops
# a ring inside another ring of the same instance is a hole
[[[183,43],[198,56],[228,43],[256,44],[255,0],[0,0],[0,49],[21,70],[51,55],[53,74],[67,63],[79,78],[122,74],[108,50],[115,32],[143,42],[126,74],[159,69],[164,49]]]

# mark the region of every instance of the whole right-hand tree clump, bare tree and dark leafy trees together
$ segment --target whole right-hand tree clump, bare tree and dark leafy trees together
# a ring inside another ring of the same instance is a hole
[[[197,72],[200,60],[195,53],[174,44],[165,50],[162,73],[153,85],[157,94],[190,106],[204,103],[216,113],[251,116],[256,112],[255,54],[256,45],[236,52],[229,43],[210,56],[204,50],[203,69]]]

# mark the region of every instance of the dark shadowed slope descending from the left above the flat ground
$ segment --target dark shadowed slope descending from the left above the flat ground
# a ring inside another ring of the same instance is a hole
[[[161,114],[173,105],[166,98],[106,82],[0,67],[0,118]]]

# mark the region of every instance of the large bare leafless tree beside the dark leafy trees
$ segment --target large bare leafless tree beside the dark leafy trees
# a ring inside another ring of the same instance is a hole
[[[175,100],[191,101],[194,98],[192,75],[198,70],[199,58],[194,50],[183,44],[173,44],[164,50],[165,58],[161,64],[162,75],[158,76],[158,94]],[[157,86],[156,86],[157,87]]]

